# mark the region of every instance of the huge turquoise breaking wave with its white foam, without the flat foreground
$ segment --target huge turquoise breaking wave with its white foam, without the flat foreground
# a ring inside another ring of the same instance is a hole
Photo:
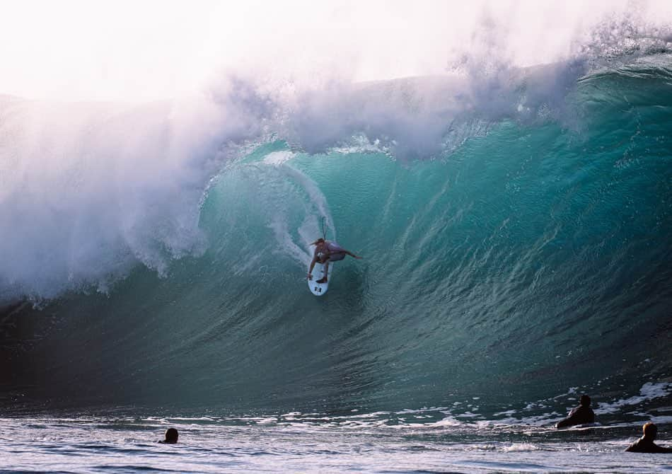
[[[672,62],[516,74],[488,93],[311,93],[276,122],[252,118],[282,104],[237,83],[205,119],[98,105],[75,114],[85,125],[14,135],[1,291],[39,309],[6,316],[21,320],[6,340],[25,334],[5,345],[5,393],[496,410],[667,380]],[[7,137],[46,106],[2,107]],[[223,128],[232,107],[250,120]],[[318,299],[305,273],[323,217],[364,260],[337,263]]]

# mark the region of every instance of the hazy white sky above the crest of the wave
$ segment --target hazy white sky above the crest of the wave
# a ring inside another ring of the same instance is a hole
[[[589,6],[586,6],[589,5]],[[352,80],[442,74],[463,52],[566,57],[604,15],[659,23],[672,1],[0,0],[0,93],[150,100],[222,70]]]

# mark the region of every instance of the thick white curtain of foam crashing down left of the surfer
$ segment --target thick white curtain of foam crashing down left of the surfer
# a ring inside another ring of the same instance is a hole
[[[199,200],[216,169],[207,104],[12,101],[0,108],[0,300],[100,290],[142,263],[199,254]],[[214,115],[209,115],[214,112]]]

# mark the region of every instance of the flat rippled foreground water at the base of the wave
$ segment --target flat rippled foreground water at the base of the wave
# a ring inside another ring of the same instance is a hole
[[[164,418],[2,419],[7,472],[609,472],[671,470],[624,452],[629,427],[554,432],[524,424],[428,422],[442,409]],[[177,427],[178,444],[158,444]]]

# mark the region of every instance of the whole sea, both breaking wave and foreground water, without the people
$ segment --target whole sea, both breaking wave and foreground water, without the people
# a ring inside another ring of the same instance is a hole
[[[666,45],[1,96],[0,470],[672,470],[622,452],[672,444]],[[316,298],[323,230],[364,259]],[[598,424],[554,429],[583,393]]]

